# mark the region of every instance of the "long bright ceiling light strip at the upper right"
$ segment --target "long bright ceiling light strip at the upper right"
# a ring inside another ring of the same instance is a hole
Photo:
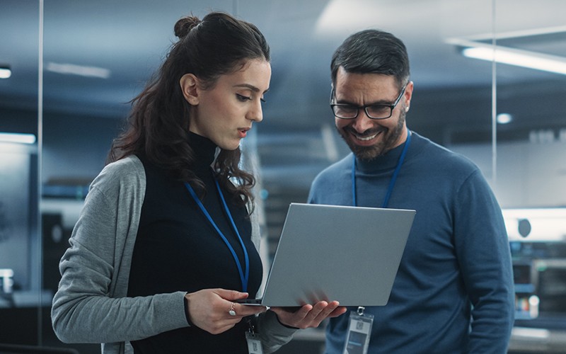
[[[462,50],[465,57],[566,75],[566,58],[541,55],[535,52],[506,47],[470,47]]]

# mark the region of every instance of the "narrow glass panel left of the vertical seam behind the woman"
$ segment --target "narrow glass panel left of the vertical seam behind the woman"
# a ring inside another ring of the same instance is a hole
[[[37,343],[40,6],[2,0],[0,8],[0,343]]]

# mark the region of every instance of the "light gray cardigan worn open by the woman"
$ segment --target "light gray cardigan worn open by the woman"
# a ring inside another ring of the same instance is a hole
[[[144,166],[129,156],[105,166],[91,184],[70,247],[59,263],[52,324],[66,343],[102,343],[102,353],[133,353],[129,341],[189,326],[186,292],[127,297],[129,266],[146,188]],[[252,241],[259,249],[252,215]],[[291,340],[296,330],[267,311],[258,319],[265,353]]]

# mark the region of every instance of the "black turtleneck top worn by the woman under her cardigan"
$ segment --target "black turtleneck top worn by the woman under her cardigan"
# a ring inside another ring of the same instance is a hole
[[[190,147],[197,156],[194,171],[207,190],[202,204],[229,240],[245,270],[242,247],[221,204],[210,168],[216,145],[191,133]],[[146,193],[132,257],[128,296],[179,290],[195,292],[216,287],[242,291],[233,256],[185,185],[151,164],[145,156],[139,158],[146,172]],[[248,250],[248,292],[253,296],[261,283],[262,266],[250,239],[250,220],[246,208],[231,204],[228,193],[225,190],[223,193]],[[248,353],[246,329],[246,321],[241,321],[233,329],[213,336],[191,326],[134,341],[132,345],[135,353]]]

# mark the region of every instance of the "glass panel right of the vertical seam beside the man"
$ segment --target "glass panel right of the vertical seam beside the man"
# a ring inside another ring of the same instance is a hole
[[[497,0],[495,108],[506,120],[495,190],[512,246],[516,327],[530,330],[515,333],[512,350],[565,345],[566,26],[555,4],[524,1],[511,16],[516,1]]]

